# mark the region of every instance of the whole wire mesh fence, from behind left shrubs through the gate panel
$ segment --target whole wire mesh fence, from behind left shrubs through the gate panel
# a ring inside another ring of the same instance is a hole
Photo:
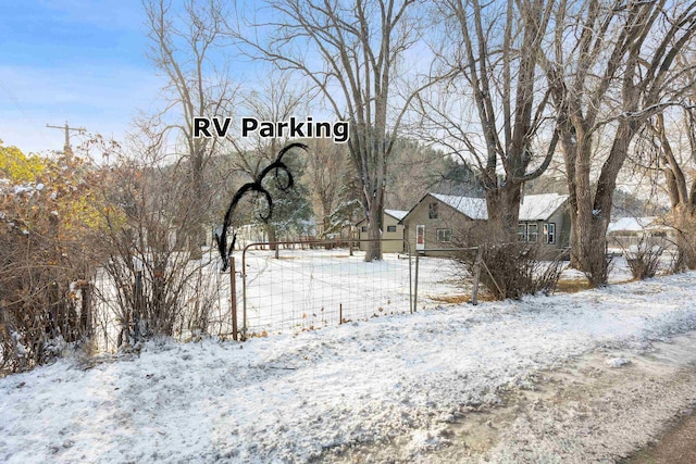
[[[365,262],[360,246],[366,242],[252,243],[233,254],[232,274],[220,272],[212,252],[191,261],[178,296],[173,336],[185,340],[200,333],[244,339],[411,312],[413,260],[408,242],[405,252]],[[126,284],[133,288],[124,292],[104,269],[95,275],[92,327],[98,351],[115,351],[126,333],[147,333],[149,321],[141,315],[152,304],[152,278],[144,273],[138,281],[136,273]],[[146,293],[144,302],[137,299],[140,291]],[[124,299],[128,293],[135,293],[135,301]]]

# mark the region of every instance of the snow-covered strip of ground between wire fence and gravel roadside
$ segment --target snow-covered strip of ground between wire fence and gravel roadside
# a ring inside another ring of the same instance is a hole
[[[687,273],[245,343],[152,341],[115,362],[67,359],[0,379],[0,461],[333,461],[396,437],[427,461],[451,444],[448,424],[542,369],[696,330],[695,301]]]

